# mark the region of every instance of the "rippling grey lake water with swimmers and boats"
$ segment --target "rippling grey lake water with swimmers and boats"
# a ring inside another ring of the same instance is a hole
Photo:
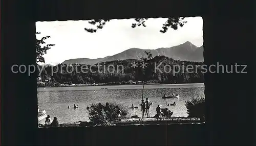
[[[83,86],[83,87],[46,87],[38,88],[38,105],[40,109],[45,109],[46,113],[53,119],[58,118],[59,123],[73,123],[75,121],[88,120],[87,105],[106,102],[119,103],[127,107],[138,106],[138,109],[130,109],[131,115],[142,116],[139,104],[142,99],[143,85],[117,85],[117,86]],[[108,88],[102,90],[101,88]],[[162,95],[169,95],[174,92],[179,93],[178,99],[162,99]],[[161,105],[173,111],[173,116],[187,116],[185,101],[191,98],[204,97],[204,84],[165,84],[165,85],[145,85],[144,100],[153,102],[150,108],[151,116],[156,114],[156,107]],[[167,106],[166,102],[176,106]],[[74,109],[76,104],[79,108]],[[71,108],[68,109],[68,106]],[[44,121],[43,121],[44,122]]]

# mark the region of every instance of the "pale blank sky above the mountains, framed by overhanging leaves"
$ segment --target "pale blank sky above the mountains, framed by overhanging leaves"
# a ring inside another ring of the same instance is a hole
[[[45,42],[55,44],[44,55],[46,64],[58,64],[74,58],[103,58],[121,53],[129,48],[157,49],[190,41],[196,46],[203,44],[202,17],[185,18],[187,23],[178,30],[169,28],[165,34],[159,31],[166,18],[149,18],[146,27],[133,29],[134,19],[112,19],[103,29],[89,33],[84,28],[95,28],[89,20],[38,21],[37,39],[51,36]]]

